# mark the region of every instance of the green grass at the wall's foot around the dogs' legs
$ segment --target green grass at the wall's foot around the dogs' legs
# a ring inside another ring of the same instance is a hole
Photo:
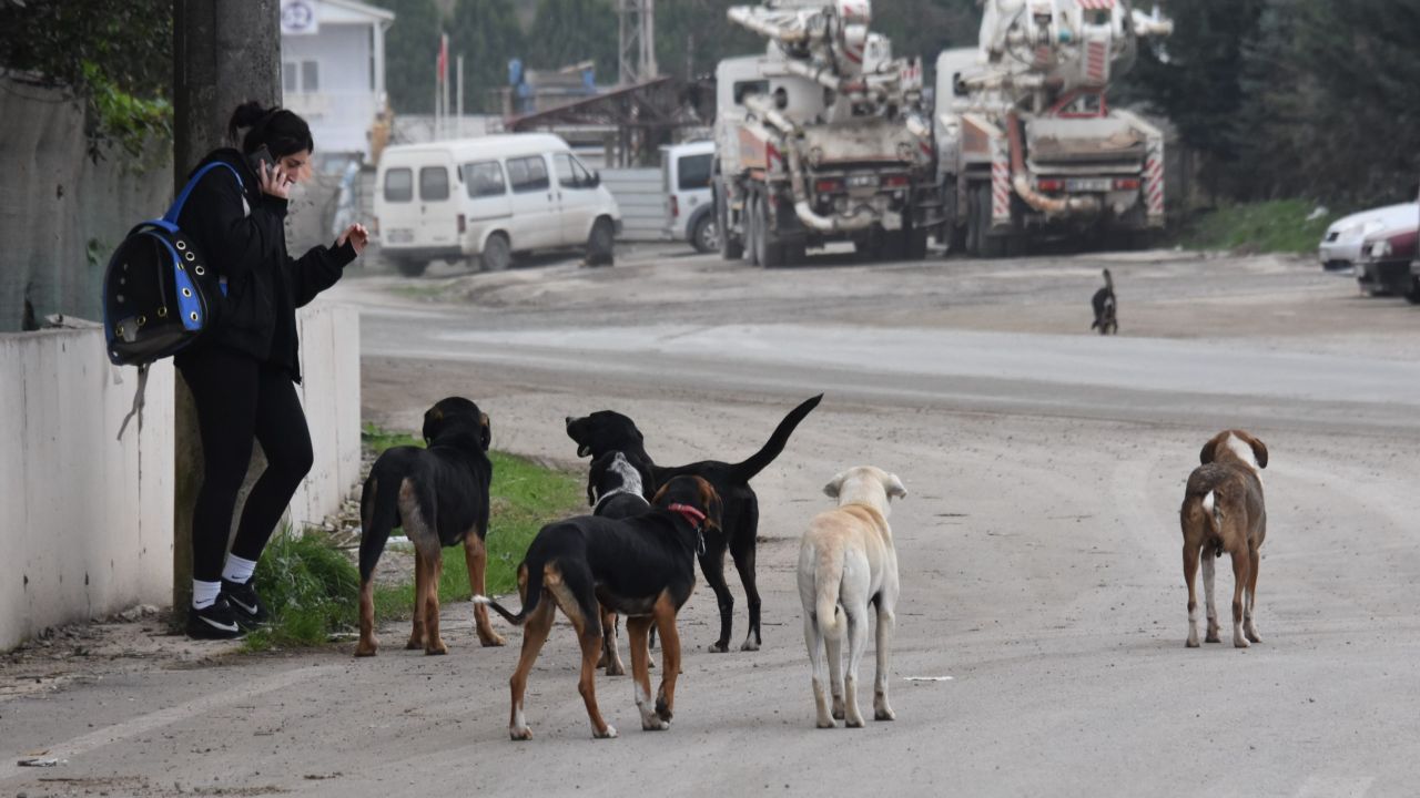
[[[375,454],[393,446],[419,446],[413,434],[365,425],[361,439]],[[513,592],[515,569],[532,537],[544,524],[582,511],[581,479],[547,469],[524,457],[490,452],[493,484],[488,517],[490,594]],[[399,534],[398,531],[395,534]],[[386,550],[386,557],[389,550]],[[246,638],[248,650],[274,646],[320,645],[332,633],[356,628],[359,571],[351,557],[334,547],[324,534],[277,535],[261,554],[256,589],[271,609],[271,625]],[[439,601],[470,596],[469,567],[463,547],[446,548]],[[415,585],[378,586],[375,616],[379,622],[408,619],[413,613]]]

